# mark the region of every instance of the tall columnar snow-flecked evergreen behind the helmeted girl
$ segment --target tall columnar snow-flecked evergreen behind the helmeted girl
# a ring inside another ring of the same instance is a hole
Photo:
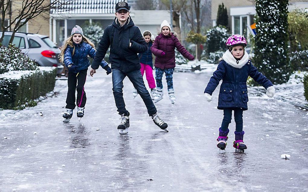
[[[289,80],[288,0],[256,0],[255,57],[257,69],[274,84]]]

